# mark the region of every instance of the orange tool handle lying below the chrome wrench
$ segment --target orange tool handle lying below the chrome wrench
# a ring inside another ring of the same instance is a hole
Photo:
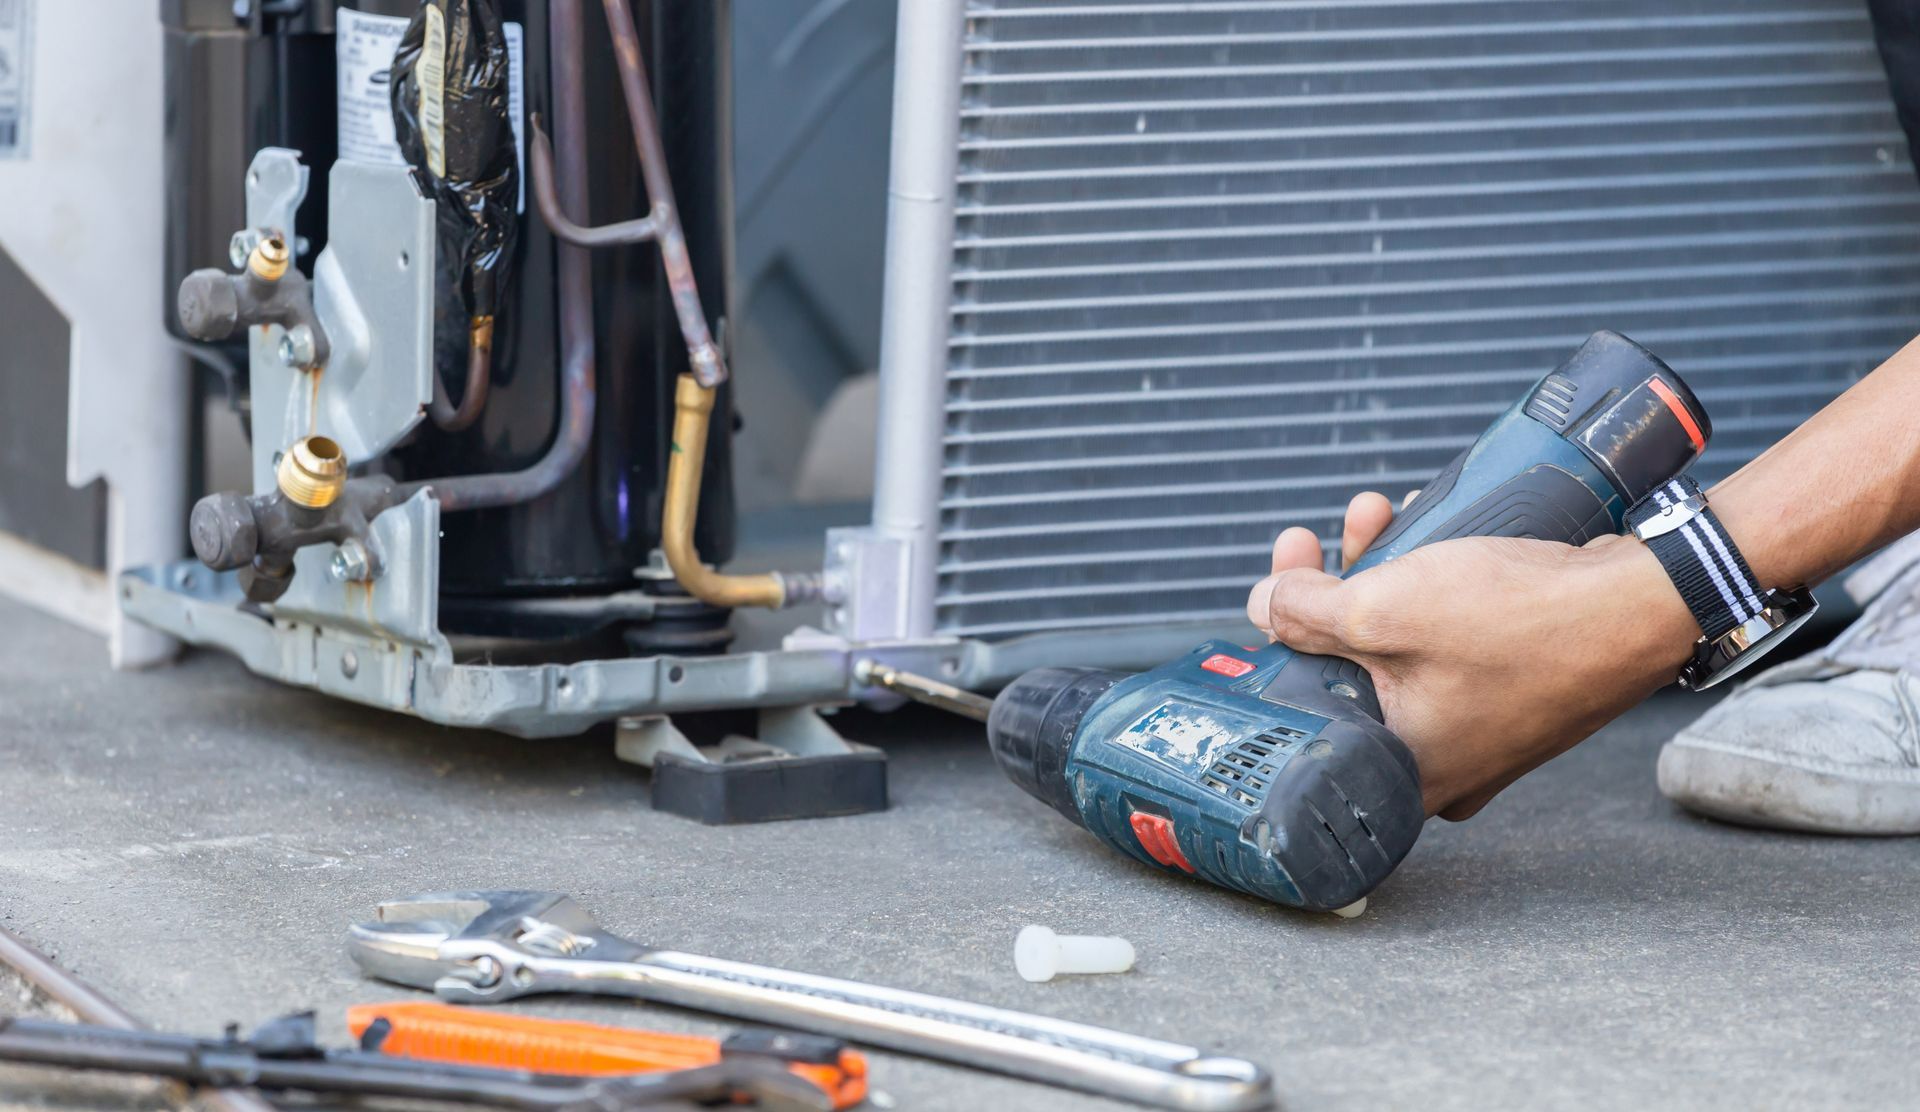
[[[380,1022],[386,1027],[376,1049],[403,1058],[586,1077],[691,1070],[712,1066],[730,1054],[778,1056],[789,1070],[820,1085],[835,1108],[851,1108],[866,1099],[866,1058],[843,1043],[810,1035],[741,1031],[722,1043],[699,1035],[511,1016],[430,1001],[348,1008],[348,1029],[355,1039],[365,1039],[367,1029]]]

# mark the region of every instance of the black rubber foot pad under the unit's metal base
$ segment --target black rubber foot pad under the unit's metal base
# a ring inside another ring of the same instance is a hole
[[[707,826],[885,810],[887,755],[862,745],[722,764],[662,753],[653,762],[653,809]]]

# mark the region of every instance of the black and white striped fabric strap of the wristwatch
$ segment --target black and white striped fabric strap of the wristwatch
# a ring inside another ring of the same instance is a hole
[[[1766,607],[1766,592],[1753,582],[1753,568],[1692,478],[1653,488],[1626,513],[1626,524],[1659,557],[1709,641]]]

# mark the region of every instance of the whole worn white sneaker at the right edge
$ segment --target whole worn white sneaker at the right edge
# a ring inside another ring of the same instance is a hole
[[[1824,649],[1745,682],[1661,749],[1701,814],[1822,834],[1920,834],[1920,534],[1847,578],[1870,605]]]

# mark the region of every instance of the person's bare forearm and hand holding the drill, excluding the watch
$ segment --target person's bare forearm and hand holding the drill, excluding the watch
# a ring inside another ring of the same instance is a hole
[[[1709,492],[1763,588],[1814,584],[1920,528],[1920,340]],[[1386,526],[1348,511],[1348,563]],[[1352,580],[1292,528],[1248,616],[1296,649],[1348,657],[1421,768],[1428,814],[1465,818],[1507,784],[1670,684],[1699,626],[1632,538],[1584,547],[1463,538]]]

